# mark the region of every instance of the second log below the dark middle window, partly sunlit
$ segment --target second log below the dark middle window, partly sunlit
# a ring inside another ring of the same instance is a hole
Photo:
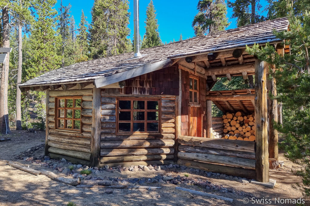
[[[101,148],[158,148],[173,147],[174,140],[124,140],[101,141]]]

